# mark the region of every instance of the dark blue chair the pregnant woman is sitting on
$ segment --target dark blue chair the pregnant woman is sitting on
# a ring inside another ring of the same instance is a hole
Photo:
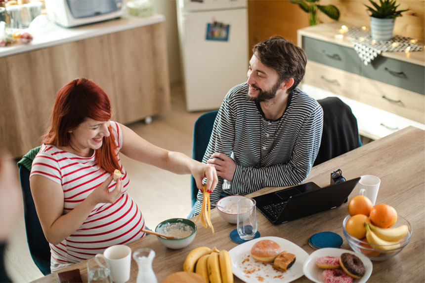
[[[31,257],[43,275],[50,274],[50,247],[44,237],[39,217],[37,216],[33,196],[30,189],[31,163],[40,146],[33,148],[18,162],[19,178],[21,181],[24,201],[25,230]],[[28,168],[29,167],[29,168]]]

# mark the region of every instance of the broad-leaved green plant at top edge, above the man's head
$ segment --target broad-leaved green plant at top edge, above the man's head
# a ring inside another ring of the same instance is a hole
[[[317,25],[319,11],[333,20],[338,21],[340,19],[340,10],[335,5],[319,5],[319,0],[293,0],[291,3],[298,4],[304,12],[308,13],[310,26]]]

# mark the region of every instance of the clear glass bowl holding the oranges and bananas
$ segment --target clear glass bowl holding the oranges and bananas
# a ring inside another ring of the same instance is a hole
[[[345,230],[345,224],[347,223],[347,220],[350,217],[350,215],[347,215],[344,218],[344,221],[342,221],[342,232],[344,234],[344,237],[352,250],[364,254],[370,260],[381,261],[393,257],[394,255],[399,253],[404,247],[406,247],[407,244],[409,244],[410,239],[412,237],[412,226],[410,225],[409,221],[407,221],[406,218],[397,215],[397,222],[395,222],[392,227],[395,228],[401,225],[407,225],[408,232],[406,236],[404,236],[403,239],[399,240],[395,245],[380,246],[378,248],[376,245],[371,245],[348,234],[348,232]]]

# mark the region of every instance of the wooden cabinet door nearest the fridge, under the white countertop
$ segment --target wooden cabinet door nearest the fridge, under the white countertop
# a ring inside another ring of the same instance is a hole
[[[118,120],[131,123],[169,110],[164,23],[107,36]]]

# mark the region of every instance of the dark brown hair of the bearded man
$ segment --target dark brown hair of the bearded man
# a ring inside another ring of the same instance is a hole
[[[289,92],[292,92],[302,80],[307,64],[305,52],[282,36],[272,36],[258,42],[253,48],[253,53],[262,64],[277,71],[280,82],[294,78],[294,85],[289,88]]]

